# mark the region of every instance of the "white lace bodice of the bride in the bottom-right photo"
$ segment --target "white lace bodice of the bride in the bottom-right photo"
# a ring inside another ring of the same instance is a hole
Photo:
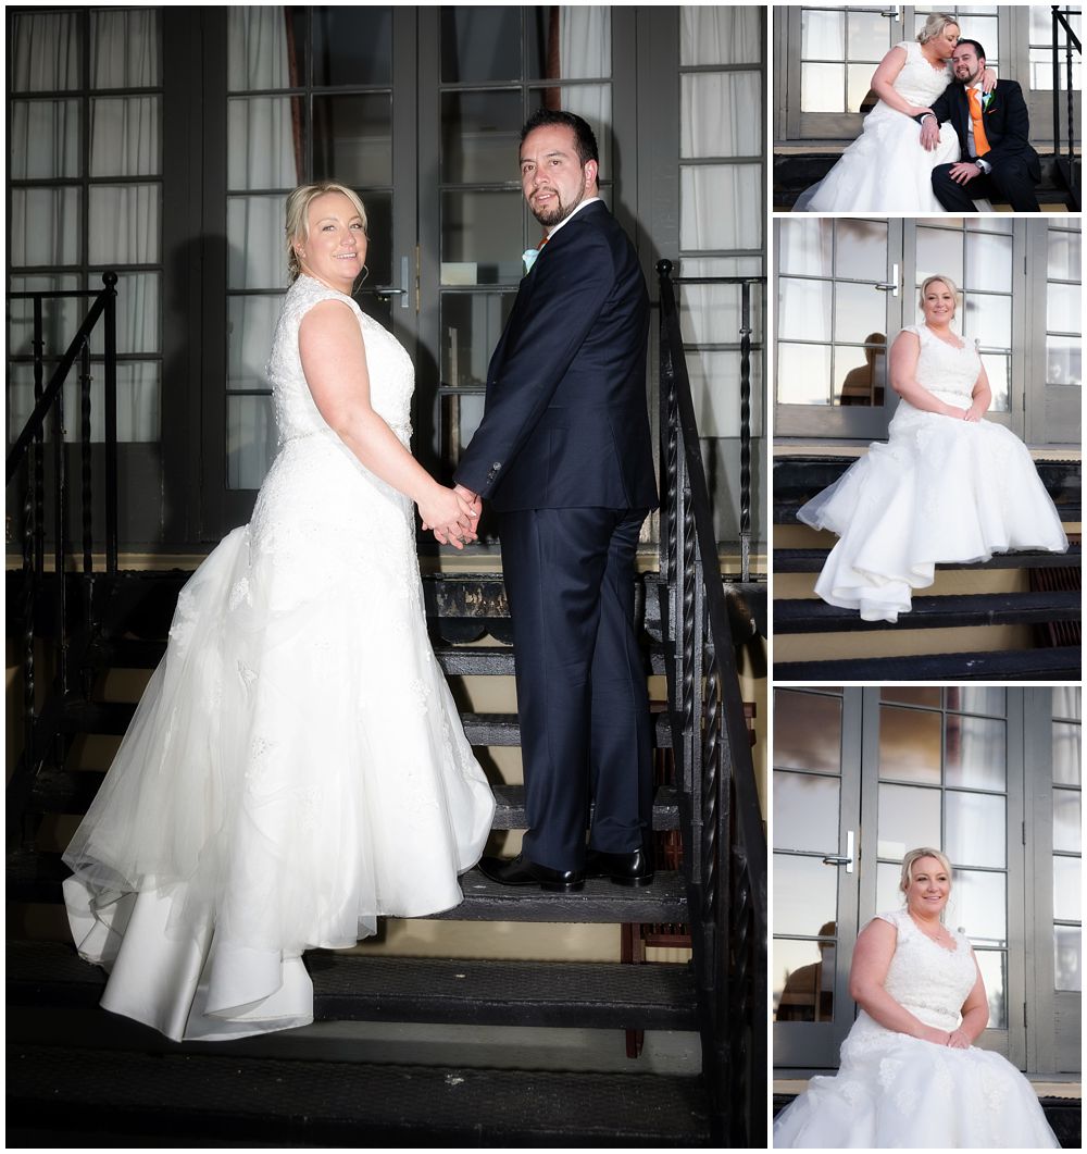
[[[878,917],[898,931],[894,957],[883,988],[927,1025],[954,1029],[963,1003],[977,981],[966,936],[951,930],[956,941],[952,952],[922,934],[904,909]]]

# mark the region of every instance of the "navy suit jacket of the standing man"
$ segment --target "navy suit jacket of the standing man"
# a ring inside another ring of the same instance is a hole
[[[521,280],[455,480],[500,512],[655,508],[648,336],[634,247],[589,204]]]

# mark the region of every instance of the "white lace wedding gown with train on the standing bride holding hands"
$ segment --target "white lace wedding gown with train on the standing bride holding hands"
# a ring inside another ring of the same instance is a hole
[[[279,452],[249,525],[178,599],[166,655],[65,861],[101,1004],[175,1040],[312,1020],[310,947],[462,900],[495,801],[427,634],[410,500],[325,424],[299,327],[358,320],[371,404],[407,447],[412,362],[348,297],[287,293]]]

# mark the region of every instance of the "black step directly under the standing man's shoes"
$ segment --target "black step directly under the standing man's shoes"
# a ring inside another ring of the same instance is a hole
[[[59,902],[69,875],[60,854],[14,849],[7,855],[8,901]],[[687,893],[681,874],[658,871],[652,885],[627,889],[590,878],[579,893],[514,889],[485,878],[477,869],[460,879],[465,900],[431,917],[466,922],[647,922],[685,923]]]

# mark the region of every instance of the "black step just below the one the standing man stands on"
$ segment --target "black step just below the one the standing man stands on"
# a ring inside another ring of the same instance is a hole
[[[696,1029],[687,965],[305,956],[317,1021]],[[106,975],[70,945],[9,942],[8,1005],[91,1007]]]

